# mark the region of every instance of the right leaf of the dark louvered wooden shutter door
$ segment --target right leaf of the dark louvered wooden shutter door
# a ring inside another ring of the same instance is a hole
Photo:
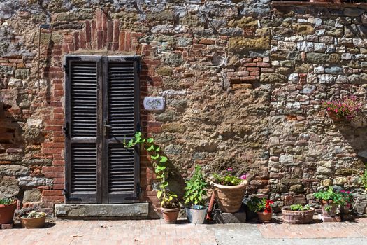
[[[122,142],[134,137],[138,122],[138,62],[108,57],[106,69],[106,188],[109,203],[127,202],[137,195],[138,147],[126,149]]]

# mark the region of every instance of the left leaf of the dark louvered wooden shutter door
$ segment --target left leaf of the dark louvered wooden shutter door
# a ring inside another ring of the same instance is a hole
[[[69,203],[99,197],[99,71],[101,57],[66,57],[66,188]]]

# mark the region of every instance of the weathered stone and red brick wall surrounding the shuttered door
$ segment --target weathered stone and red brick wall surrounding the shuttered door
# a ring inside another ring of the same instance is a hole
[[[66,54],[141,55],[141,99],[166,99],[164,111],[141,110],[143,132],[164,146],[178,185],[200,164],[208,175],[247,172],[248,192],[278,206],[312,202],[322,186],[364,193],[366,103],[352,123],[320,105],[348,94],[366,101],[366,5],[41,3],[0,3],[0,197],[50,211],[64,202]],[[142,156],[141,200],[156,207]],[[366,207],[362,195],[355,209]]]

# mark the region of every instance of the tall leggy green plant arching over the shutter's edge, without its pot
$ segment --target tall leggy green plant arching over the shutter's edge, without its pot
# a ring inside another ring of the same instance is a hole
[[[141,132],[136,132],[133,139],[124,141],[123,144],[125,148],[132,148],[137,144],[141,144],[145,148],[147,153],[150,155],[152,166],[154,167],[154,173],[159,181],[157,197],[161,201],[161,207],[168,209],[179,207],[178,196],[168,188],[168,158],[162,155],[161,148],[154,144],[154,139],[145,139]]]

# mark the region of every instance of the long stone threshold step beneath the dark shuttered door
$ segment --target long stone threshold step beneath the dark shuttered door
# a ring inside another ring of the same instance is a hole
[[[55,204],[58,218],[147,218],[149,204]]]

